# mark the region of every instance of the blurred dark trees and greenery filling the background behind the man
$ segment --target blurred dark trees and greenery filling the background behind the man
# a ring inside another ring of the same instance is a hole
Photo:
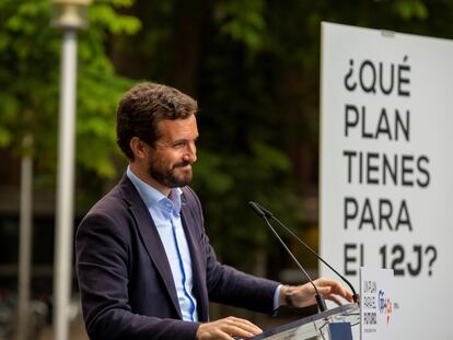
[[[105,0],[89,14],[79,37],[74,225],[124,174],[121,94],[142,80],[165,83],[199,104],[193,187],[218,257],[287,281],[292,263],[247,201],[317,248],[321,22],[453,38],[452,0]],[[49,21],[48,0],[0,2],[0,292],[16,280],[20,159],[31,155],[33,261],[49,282],[35,271],[33,289],[51,293],[61,33]],[[23,148],[27,133],[34,144]],[[313,258],[303,262],[316,272]]]

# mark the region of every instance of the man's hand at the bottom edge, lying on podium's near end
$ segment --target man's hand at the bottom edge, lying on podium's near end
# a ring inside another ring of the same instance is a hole
[[[252,338],[263,330],[248,320],[229,316],[226,318],[201,324],[196,333],[197,340],[228,339],[233,337]]]

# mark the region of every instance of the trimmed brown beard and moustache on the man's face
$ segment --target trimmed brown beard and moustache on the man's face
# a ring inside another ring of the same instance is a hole
[[[191,181],[191,167],[181,169],[187,165],[191,165],[191,163],[188,161],[179,162],[174,164],[171,169],[167,169],[161,162],[151,160],[148,166],[148,173],[152,178],[167,188],[179,188],[187,186]]]

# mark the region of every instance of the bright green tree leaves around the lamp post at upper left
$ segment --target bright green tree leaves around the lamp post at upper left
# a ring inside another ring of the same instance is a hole
[[[140,22],[115,7],[131,1],[92,4],[90,27],[79,37],[77,164],[98,176],[113,177],[115,108],[131,82],[115,73],[107,55],[113,34],[133,34]],[[0,2],[0,146],[21,155],[25,133],[34,137],[38,183],[55,177],[61,32],[50,27],[48,0]],[[50,180],[50,183],[49,183]]]

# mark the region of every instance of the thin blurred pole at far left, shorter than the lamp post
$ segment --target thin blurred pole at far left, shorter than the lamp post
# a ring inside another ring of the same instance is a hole
[[[33,144],[32,136],[25,136],[26,151]],[[33,159],[22,157],[21,164],[21,216],[19,242],[19,306],[18,340],[26,340],[30,318],[30,281],[32,268],[33,239]]]

